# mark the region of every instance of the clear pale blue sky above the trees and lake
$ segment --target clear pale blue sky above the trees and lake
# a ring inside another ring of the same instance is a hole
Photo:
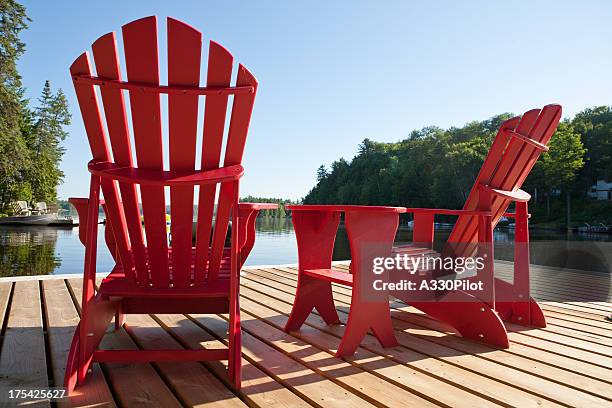
[[[612,1],[25,6],[33,21],[22,35],[19,69],[28,96],[36,98],[49,79],[64,89],[73,114],[61,198],[86,195],[89,181],[68,67],[99,36],[152,14],[193,25],[258,78],[243,195],[302,197],[319,165],[352,158],[364,138],[397,141],[423,126],[461,126],[551,102],[566,117],[612,103]]]

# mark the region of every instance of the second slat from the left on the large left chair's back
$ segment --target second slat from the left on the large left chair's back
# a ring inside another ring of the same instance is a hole
[[[99,77],[121,80],[119,69],[119,54],[117,52],[117,39],[115,33],[108,33],[100,37],[92,45],[96,73]],[[104,105],[104,115],[113,151],[113,161],[117,164],[132,166],[132,147],[127,123],[125,100],[120,89],[101,87],[100,94]],[[119,183],[121,200],[125,213],[130,246],[136,266],[136,278],[140,282],[148,282],[144,237],[140,222],[140,209],[138,207],[138,192],[136,185]],[[121,228],[113,228],[115,235],[125,234]]]

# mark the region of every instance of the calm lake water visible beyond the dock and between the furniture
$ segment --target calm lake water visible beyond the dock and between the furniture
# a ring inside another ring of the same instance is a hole
[[[439,249],[450,229],[438,231],[435,245]],[[110,271],[114,265],[103,244],[104,226],[99,229],[98,272]],[[531,262],[540,265],[610,272],[612,237],[609,235],[565,234],[532,231]],[[400,229],[398,241],[410,241],[412,232]],[[512,260],[514,232],[495,231],[495,257]],[[78,228],[0,226],[0,276],[80,274],[84,248],[78,239]],[[348,239],[343,228],[338,231],[334,259],[348,259]],[[257,222],[255,248],[246,265],[272,265],[297,262],[295,234],[289,219],[260,219]]]

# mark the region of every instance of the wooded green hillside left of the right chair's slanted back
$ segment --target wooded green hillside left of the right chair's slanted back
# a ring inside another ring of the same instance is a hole
[[[397,143],[365,139],[350,162],[317,170],[318,183],[304,203],[461,207],[499,125],[510,117],[426,127]]]

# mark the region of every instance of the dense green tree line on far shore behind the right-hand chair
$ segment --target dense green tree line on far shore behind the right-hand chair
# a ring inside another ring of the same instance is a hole
[[[461,208],[499,126],[512,116],[425,127],[398,142],[365,139],[352,160],[318,168],[303,202]],[[612,107],[588,108],[563,120],[549,146],[523,186],[543,220],[559,216],[559,203],[584,201],[598,179],[612,181]],[[611,206],[604,207],[604,216],[611,217]]]

